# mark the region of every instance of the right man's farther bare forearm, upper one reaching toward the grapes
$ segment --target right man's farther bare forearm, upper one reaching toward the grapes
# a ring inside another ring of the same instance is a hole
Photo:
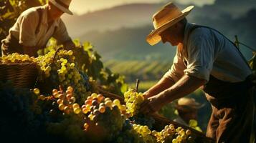
[[[165,89],[168,89],[172,85],[174,85],[174,81],[173,80],[168,79],[166,77],[162,77],[162,79],[157,84],[155,84],[153,87],[148,89],[148,91],[146,91],[144,93],[144,95],[147,98],[148,97],[152,97],[152,96],[154,96],[156,94],[159,94],[160,92],[163,92]]]

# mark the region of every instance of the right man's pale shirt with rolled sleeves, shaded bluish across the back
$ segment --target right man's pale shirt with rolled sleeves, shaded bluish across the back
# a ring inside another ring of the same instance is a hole
[[[174,63],[164,77],[177,82],[187,74],[209,81],[212,75],[224,82],[242,82],[252,74],[240,51],[217,31],[200,27],[188,39],[192,26],[186,24],[184,42],[177,46]]]

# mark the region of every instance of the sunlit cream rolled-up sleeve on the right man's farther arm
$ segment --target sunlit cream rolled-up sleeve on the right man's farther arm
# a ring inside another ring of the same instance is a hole
[[[163,77],[171,79],[174,82],[177,82],[179,81],[179,79],[181,79],[181,77],[184,75],[184,69],[186,69],[184,61],[179,55],[180,54],[177,48],[176,55],[174,56],[174,62],[171,65],[171,69],[169,69],[169,71],[167,71],[166,74],[163,75]]]

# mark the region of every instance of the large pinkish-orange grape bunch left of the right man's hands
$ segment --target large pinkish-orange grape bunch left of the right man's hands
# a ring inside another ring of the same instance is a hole
[[[125,105],[120,104],[118,99],[112,101],[110,98],[103,97],[102,94],[91,94],[87,97],[85,104],[82,105],[82,112],[87,114],[87,118],[100,127],[112,131],[113,134],[123,127],[125,117]],[[108,120],[106,120],[108,119]],[[85,130],[88,124],[84,124]]]

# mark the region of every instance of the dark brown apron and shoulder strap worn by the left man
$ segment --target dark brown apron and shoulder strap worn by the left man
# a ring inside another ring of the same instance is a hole
[[[35,34],[38,34],[40,24],[42,21],[42,9],[39,8],[37,9],[37,12],[39,14],[39,21],[37,25],[37,29],[35,31]],[[19,44],[19,39],[16,39],[13,35],[9,33],[8,36],[6,36],[6,39],[1,41],[1,54],[2,55],[7,55],[7,54],[12,54],[12,53],[19,53],[19,54],[25,54],[23,45]]]

